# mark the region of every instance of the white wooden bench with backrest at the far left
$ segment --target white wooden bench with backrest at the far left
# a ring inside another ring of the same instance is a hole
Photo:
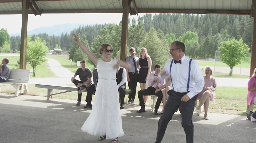
[[[24,89],[28,93],[28,81],[30,79],[30,70],[27,69],[11,69],[9,80],[0,82],[0,84],[10,84],[15,88],[15,95],[24,93]]]

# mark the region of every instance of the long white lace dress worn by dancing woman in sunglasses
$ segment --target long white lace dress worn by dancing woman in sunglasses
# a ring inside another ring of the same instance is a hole
[[[124,135],[120,113],[119,95],[116,82],[118,59],[104,62],[98,59],[98,83],[91,114],[81,130],[93,136],[106,135],[107,139]]]

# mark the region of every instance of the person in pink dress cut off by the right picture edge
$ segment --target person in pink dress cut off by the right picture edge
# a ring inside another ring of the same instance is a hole
[[[253,110],[254,104],[256,104],[256,68],[248,81],[247,112]]]

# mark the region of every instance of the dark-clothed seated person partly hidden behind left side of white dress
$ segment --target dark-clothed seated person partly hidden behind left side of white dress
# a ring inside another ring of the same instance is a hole
[[[87,90],[87,96],[86,96],[86,99],[85,99],[85,101],[87,102],[87,104],[84,106],[84,108],[91,108],[91,107],[92,107],[92,104],[91,104],[92,95],[93,95],[93,93],[96,91],[96,87],[97,87],[97,83],[98,83],[98,71],[97,71],[97,68],[95,68],[95,69],[92,71],[92,76],[93,76],[94,84],[92,84],[92,85],[88,88],[88,90]]]

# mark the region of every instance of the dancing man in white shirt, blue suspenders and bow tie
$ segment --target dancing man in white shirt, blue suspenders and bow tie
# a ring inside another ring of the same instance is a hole
[[[187,143],[193,143],[194,125],[192,115],[197,94],[202,91],[204,78],[196,61],[188,58],[184,54],[185,45],[180,41],[175,41],[170,45],[172,55],[161,73],[160,78],[171,77],[171,90],[168,91],[163,115],[158,121],[158,133],[156,142],[160,143],[164,137],[166,127],[176,110],[182,108],[181,125],[186,133]]]

